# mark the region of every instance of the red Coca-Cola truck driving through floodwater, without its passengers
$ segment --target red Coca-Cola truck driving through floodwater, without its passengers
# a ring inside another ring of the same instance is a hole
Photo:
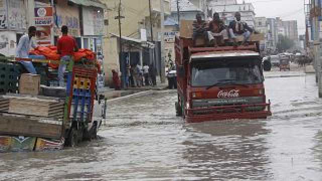
[[[271,116],[257,45],[193,47],[176,37],[177,115],[187,122]]]

